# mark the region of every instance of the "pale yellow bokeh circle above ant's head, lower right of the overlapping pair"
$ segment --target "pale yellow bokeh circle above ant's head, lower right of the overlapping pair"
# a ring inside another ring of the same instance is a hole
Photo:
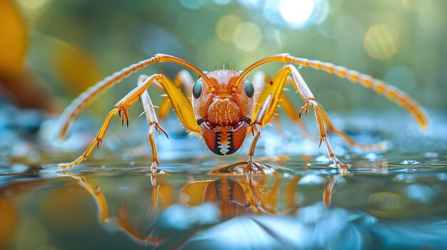
[[[233,43],[241,51],[256,50],[261,38],[261,29],[251,22],[238,24],[233,33]]]

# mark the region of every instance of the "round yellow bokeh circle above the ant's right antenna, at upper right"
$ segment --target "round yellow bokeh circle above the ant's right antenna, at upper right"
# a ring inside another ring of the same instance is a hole
[[[380,60],[391,58],[398,51],[399,34],[385,24],[371,26],[366,32],[363,45],[368,55],[373,58]]]

